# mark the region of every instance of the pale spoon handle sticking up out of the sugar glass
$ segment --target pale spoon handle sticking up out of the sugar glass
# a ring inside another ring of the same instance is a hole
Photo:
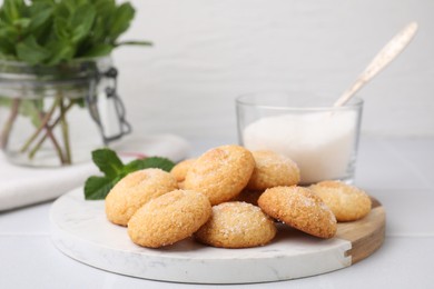
[[[388,43],[375,56],[365,70],[358,76],[354,84],[345,90],[345,92],[336,100],[334,107],[345,104],[367,81],[383,70],[395,57],[397,57],[404,48],[413,39],[417,31],[417,23],[407,24],[398,32]]]

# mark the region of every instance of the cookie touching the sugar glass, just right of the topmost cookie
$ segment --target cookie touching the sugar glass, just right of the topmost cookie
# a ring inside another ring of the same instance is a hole
[[[266,190],[299,182],[299,169],[292,159],[269,150],[251,151],[251,153],[256,166],[247,185],[248,189]]]

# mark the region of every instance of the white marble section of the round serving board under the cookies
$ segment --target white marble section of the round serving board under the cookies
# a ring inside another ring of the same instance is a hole
[[[103,201],[86,201],[82,188],[55,201],[55,246],[103,270],[145,279],[190,283],[250,283],[288,280],[352,265],[351,241],[328,240],[279,227],[272,243],[248,249],[206,247],[193,238],[162,249],[136,246],[127,229],[106,219]]]

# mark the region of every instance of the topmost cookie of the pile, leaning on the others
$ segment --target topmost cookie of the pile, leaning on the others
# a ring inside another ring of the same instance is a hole
[[[201,155],[188,170],[185,189],[203,192],[211,205],[237,196],[255,168],[251,152],[240,146],[221,146]]]

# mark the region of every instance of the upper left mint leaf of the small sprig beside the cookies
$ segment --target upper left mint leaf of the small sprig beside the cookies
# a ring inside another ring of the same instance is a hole
[[[122,161],[110,149],[93,150],[92,160],[99,170],[109,178],[116,178],[124,172]]]

